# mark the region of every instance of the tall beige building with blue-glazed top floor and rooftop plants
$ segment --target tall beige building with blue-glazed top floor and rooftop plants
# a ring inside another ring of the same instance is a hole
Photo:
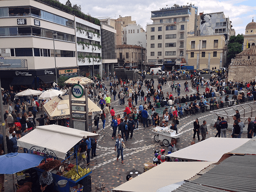
[[[147,23],[147,66],[164,64],[171,70],[186,55],[187,36],[195,36],[197,7],[193,5],[151,11]]]

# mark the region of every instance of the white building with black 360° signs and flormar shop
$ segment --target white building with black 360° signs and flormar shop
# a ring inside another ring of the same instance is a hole
[[[0,1],[0,17],[5,89],[39,88],[56,81],[58,73],[77,75],[74,15],[34,0],[8,0]]]

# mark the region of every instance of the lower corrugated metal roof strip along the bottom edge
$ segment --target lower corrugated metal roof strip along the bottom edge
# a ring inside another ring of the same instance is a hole
[[[223,192],[223,190],[187,182],[172,192]]]

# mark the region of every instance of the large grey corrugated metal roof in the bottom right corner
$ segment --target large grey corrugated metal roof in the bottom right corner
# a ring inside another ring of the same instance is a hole
[[[228,191],[255,192],[255,170],[255,155],[234,155],[190,182]]]

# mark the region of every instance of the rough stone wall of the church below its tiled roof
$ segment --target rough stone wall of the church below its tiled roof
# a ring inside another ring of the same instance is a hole
[[[248,59],[248,55],[236,56],[231,60],[228,67],[228,81],[242,81],[250,82],[256,78],[256,56],[251,55]]]

